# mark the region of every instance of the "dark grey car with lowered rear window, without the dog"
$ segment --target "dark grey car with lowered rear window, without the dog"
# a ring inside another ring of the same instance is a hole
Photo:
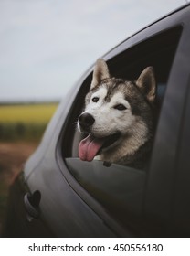
[[[102,58],[119,78],[155,70],[159,112],[147,168],[79,160],[76,121],[92,65],[61,101],[10,188],[5,237],[190,236],[190,5]]]

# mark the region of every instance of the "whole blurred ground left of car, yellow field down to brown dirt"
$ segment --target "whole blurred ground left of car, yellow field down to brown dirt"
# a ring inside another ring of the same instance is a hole
[[[0,236],[8,188],[39,144],[58,102],[0,104]]]

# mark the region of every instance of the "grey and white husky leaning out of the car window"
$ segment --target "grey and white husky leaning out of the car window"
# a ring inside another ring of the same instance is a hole
[[[153,105],[156,82],[153,68],[135,81],[111,78],[106,62],[98,59],[79,132],[89,135],[79,143],[79,158],[138,167],[153,141]]]

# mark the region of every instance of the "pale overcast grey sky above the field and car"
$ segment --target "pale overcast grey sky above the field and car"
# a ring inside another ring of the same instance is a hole
[[[187,0],[0,0],[0,102],[61,100],[108,50]]]

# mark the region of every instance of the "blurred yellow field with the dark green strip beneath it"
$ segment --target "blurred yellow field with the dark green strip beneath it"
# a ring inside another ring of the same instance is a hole
[[[38,141],[58,103],[0,105],[0,141]]]

